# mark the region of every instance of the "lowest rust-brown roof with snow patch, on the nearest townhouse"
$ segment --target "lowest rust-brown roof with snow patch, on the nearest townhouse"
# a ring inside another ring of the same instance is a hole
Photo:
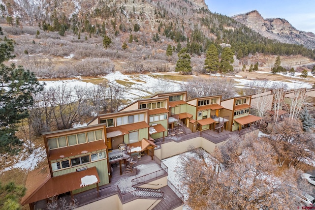
[[[22,206],[46,198],[60,195],[75,189],[82,188],[81,178],[94,175],[99,183],[99,177],[96,167],[88,168],[85,171],[72,172],[58,177],[51,177],[48,166],[39,170],[32,171],[28,174],[26,180],[27,191],[21,200]],[[36,181],[34,181],[36,177]],[[95,182],[96,183],[96,182]]]

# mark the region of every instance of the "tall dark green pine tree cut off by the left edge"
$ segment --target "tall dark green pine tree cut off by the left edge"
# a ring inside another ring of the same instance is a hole
[[[1,29],[0,29],[1,30]],[[32,94],[43,90],[33,72],[16,68],[4,61],[14,58],[13,40],[4,37],[0,42],[0,152],[19,150],[22,141],[15,136],[17,123],[27,118],[28,107],[33,104]]]

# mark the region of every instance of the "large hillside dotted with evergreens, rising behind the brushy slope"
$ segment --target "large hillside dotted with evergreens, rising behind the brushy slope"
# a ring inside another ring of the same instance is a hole
[[[176,52],[180,47],[187,47],[190,55],[200,55],[211,43],[219,51],[220,44],[226,43],[238,59],[255,53],[303,55],[314,59],[313,50],[269,40],[232,18],[210,12],[211,8],[202,0],[45,2],[2,0],[1,22],[18,28],[32,26],[46,32],[57,31],[61,38],[71,32],[86,42],[106,35],[119,47],[126,42],[165,50],[171,44]]]

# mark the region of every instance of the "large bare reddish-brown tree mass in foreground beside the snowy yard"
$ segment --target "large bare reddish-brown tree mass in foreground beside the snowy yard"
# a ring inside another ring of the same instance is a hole
[[[200,152],[182,155],[176,170],[188,193],[187,205],[193,210],[277,209],[279,204],[296,208],[298,199],[294,194],[300,193],[297,177],[301,172],[290,168],[275,176],[272,151],[268,143],[251,138],[228,142],[210,158]],[[212,164],[213,159],[222,161],[220,173],[214,173],[218,163]]]

